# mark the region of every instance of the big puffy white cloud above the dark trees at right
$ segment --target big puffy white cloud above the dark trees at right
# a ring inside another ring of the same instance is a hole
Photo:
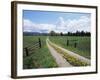
[[[66,26],[68,31],[90,31],[91,21],[90,18],[86,16],[81,16],[79,19],[67,20]]]

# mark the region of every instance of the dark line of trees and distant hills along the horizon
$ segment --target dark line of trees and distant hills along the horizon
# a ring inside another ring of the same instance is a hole
[[[57,33],[55,31],[50,31],[49,33],[39,33],[39,32],[23,32],[24,36],[91,36],[90,32],[76,31],[67,33]]]

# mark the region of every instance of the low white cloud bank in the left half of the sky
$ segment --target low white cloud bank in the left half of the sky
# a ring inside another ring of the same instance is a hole
[[[49,32],[50,30],[54,30],[55,25],[53,24],[36,24],[33,23],[31,20],[24,19],[23,21],[23,30],[24,32]]]

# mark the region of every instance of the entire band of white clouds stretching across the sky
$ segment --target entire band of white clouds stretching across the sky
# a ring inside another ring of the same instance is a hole
[[[51,30],[55,32],[76,32],[78,31],[90,31],[90,17],[81,16],[79,19],[67,19],[65,20],[63,17],[59,17],[55,24],[47,24],[47,23],[34,23],[29,19],[24,19],[23,21],[23,30],[27,32],[40,32],[40,33],[48,33]]]

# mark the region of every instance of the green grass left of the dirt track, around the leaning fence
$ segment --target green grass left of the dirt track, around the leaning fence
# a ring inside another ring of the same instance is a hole
[[[46,36],[24,36],[23,47],[34,45],[38,42],[38,38],[41,39],[42,47],[29,51],[29,56],[25,56],[25,52],[23,53],[23,69],[57,67],[55,60],[47,48],[45,42]]]

